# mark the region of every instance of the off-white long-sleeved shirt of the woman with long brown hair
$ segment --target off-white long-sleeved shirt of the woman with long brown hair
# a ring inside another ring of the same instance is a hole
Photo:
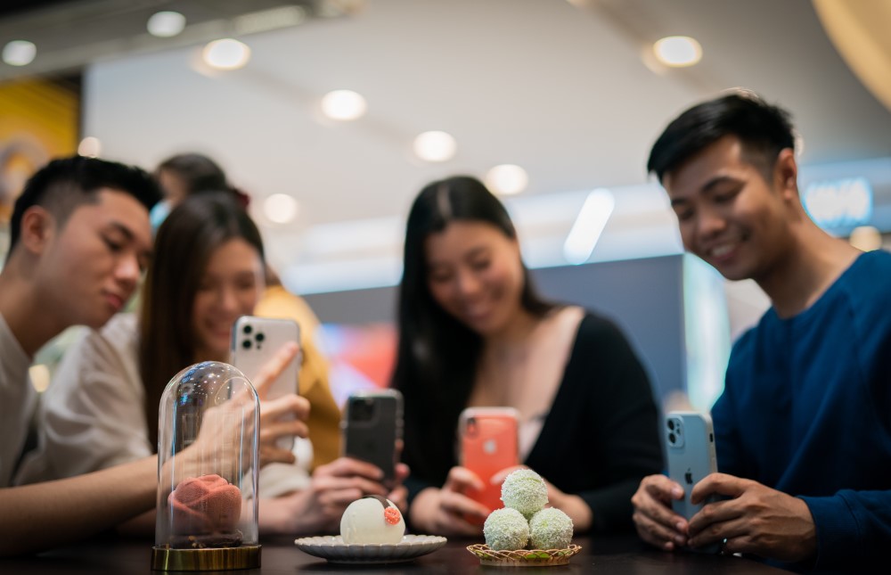
[[[87,331],[69,348],[44,393],[38,448],[22,462],[17,484],[72,477],[154,453],[138,357],[133,314],[114,316],[100,331]],[[295,445],[298,465],[263,468],[262,497],[308,485],[312,446],[306,440]]]

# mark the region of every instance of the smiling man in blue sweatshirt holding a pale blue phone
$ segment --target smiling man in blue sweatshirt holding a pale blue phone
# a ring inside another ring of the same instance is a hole
[[[684,111],[650,153],[686,250],[772,307],[736,341],[715,402],[719,473],[706,505],[645,478],[640,536],[666,550],[721,542],[795,569],[855,570],[891,542],[891,254],[826,234],[798,197],[789,115],[736,92]]]

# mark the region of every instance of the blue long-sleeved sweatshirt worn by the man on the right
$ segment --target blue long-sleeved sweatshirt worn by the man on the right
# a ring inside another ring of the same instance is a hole
[[[801,497],[817,571],[891,546],[891,254],[860,256],[797,316],[769,309],[732,350],[712,409],[721,472]]]

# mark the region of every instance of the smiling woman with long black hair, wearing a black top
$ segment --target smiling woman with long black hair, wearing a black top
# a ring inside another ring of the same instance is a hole
[[[457,464],[455,437],[462,409],[486,406],[518,410],[520,459],[576,532],[632,528],[634,490],[662,469],[647,375],[615,324],[535,292],[507,210],[477,179],[415,199],[398,313],[416,529],[480,532],[490,510],[465,493],[488,478]]]

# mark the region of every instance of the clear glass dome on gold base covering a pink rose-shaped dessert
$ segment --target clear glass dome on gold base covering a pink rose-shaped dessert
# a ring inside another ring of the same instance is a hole
[[[170,380],[158,422],[152,569],[258,567],[259,402],[233,366],[202,362]]]

